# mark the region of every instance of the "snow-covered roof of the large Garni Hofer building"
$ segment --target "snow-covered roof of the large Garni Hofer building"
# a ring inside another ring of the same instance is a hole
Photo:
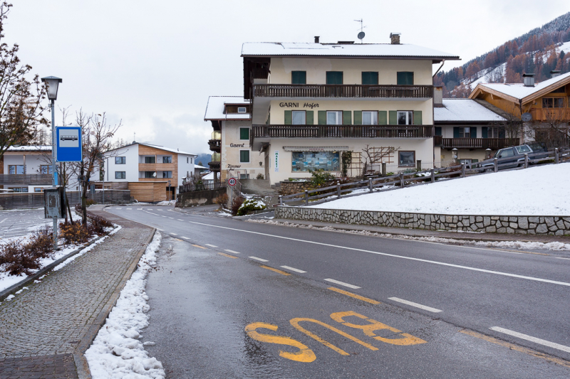
[[[242,46],[242,56],[248,55],[324,55],[459,59],[457,55],[405,43],[393,45],[391,43],[246,42]]]

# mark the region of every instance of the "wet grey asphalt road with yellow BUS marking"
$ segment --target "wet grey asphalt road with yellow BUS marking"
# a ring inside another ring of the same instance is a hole
[[[106,210],[165,235],[145,338],[172,378],[570,376],[568,255]]]

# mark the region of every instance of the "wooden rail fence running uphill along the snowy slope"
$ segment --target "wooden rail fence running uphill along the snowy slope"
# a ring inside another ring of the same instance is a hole
[[[497,172],[506,164],[512,164],[513,159],[517,157],[509,156],[507,158],[495,158],[493,161],[492,169],[484,169],[482,167],[474,167],[475,164],[460,164],[456,166],[442,167],[439,169],[430,169],[425,171],[415,171],[413,173],[400,173],[392,176],[383,176],[380,178],[368,178],[365,181],[356,181],[352,183],[337,183],[336,186],[328,186],[323,188],[316,188],[292,195],[279,196],[279,204],[286,205],[287,203],[294,203],[294,205],[309,205],[326,203],[327,201],[338,200],[339,198],[348,198],[352,196],[366,195],[367,193],[391,191],[394,189],[405,188],[406,185],[414,184],[415,182],[422,181],[423,184],[435,183],[437,178],[465,178],[467,174],[481,175],[489,174],[490,172]],[[533,154],[524,154],[524,162],[522,166],[514,169],[527,169],[530,164],[544,163],[544,161],[553,160],[552,164],[559,164],[561,161],[570,162],[570,149],[554,149],[554,151],[539,152]],[[490,170],[490,171],[489,171]],[[417,185],[417,184],[416,184]],[[353,193],[358,191],[357,193]]]

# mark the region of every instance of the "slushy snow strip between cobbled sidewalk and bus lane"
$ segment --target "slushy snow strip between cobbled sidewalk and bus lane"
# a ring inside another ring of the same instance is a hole
[[[138,269],[120,292],[105,325],[85,353],[93,379],[165,378],[162,363],[149,357],[138,339],[140,331],[148,326],[147,311],[150,307],[145,293],[145,278],[156,265],[160,238],[157,231],[145,254],[140,257]]]

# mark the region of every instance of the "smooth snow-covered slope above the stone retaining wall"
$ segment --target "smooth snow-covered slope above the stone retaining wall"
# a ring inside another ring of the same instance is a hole
[[[570,215],[570,163],[438,181],[311,208],[449,215]]]

